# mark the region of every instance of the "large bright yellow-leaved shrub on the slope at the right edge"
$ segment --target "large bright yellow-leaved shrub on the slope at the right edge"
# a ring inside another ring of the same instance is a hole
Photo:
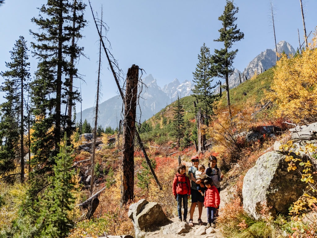
[[[295,123],[312,122],[317,116],[317,37],[316,33],[301,55],[281,55],[276,62],[271,91],[267,98],[277,106],[275,116]]]

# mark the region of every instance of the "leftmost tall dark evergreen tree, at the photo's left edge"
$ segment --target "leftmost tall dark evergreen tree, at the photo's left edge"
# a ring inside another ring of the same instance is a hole
[[[1,107],[3,115],[0,122],[1,139],[5,143],[0,147],[0,164],[1,161],[7,161],[8,169],[12,169],[12,162],[18,155],[21,161],[21,182],[24,182],[24,91],[30,79],[28,62],[28,48],[23,36],[16,41],[11,53],[11,62],[6,62],[6,67],[10,70],[1,72],[5,79],[0,90],[6,92],[4,102]],[[17,135],[17,131],[19,135]],[[6,151],[8,156],[5,156]],[[6,158],[5,158],[6,157]],[[0,165],[1,167],[1,165]],[[0,170],[2,170],[0,168]]]

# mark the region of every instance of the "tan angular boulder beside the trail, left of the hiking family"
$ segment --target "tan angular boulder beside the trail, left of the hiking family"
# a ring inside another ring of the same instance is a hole
[[[148,202],[145,199],[131,204],[128,216],[132,219],[136,238],[144,235],[143,231],[152,230],[169,221],[157,202]]]

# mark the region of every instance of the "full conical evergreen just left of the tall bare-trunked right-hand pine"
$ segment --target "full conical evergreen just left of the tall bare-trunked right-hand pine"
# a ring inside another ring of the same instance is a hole
[[[217,84],[212,85],[215,74],[210,59],[210,50],[204,43],[200,48],[196,70],[193,72],[195,87],[192,90],[193,96],[198,100],[197,106],[202,109],[204,118],[208,118],[212,114],[212,103],[215,100],[213,89],[217,87]],[[207,119],[205,125],[208,125]]]

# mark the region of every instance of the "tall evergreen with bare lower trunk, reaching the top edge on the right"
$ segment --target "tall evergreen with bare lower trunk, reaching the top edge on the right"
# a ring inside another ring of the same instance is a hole
[[[224,7],[223,15],[218,17],[219,21],[222,21],[222,28],[218,31],[220,36],[217,40],[223,42],[224,48],[220,50],[215,49],[215,54],[211,57],[212,61],[215,64],[215,71],[217,72],[217,76],[226,80],[226,91],[227,91],[227,103],[230,118],[231,109],[230,109],[230,95],[229,95],[229,76],[233,73],[233,60],[236,57],[238,49],[228,51],[233,43],[240,41],[244,38],[243,32],[240,32],[240,29],[237,29],[236,13],[238,13],[239,8],[233,5],[233,1],[227,0],[226,6]]]

